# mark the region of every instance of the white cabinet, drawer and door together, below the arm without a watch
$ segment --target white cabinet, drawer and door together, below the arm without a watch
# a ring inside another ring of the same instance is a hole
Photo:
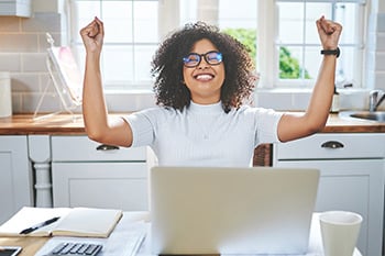
[[[52,136],[54,207],[148,210],[147,148],[100,145],[87,136]]]

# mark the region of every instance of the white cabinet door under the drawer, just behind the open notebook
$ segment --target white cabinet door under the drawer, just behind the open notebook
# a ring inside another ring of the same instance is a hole
[[[146,163],[53,163],[54,207],[147,208]]]

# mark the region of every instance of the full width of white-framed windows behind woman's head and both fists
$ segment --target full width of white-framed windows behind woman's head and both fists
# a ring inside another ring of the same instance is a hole
[[[255,55],[256,71],[261,74],[260,87],[309,88],[315,84],[321,62],[315,22],[322,14],[344,25],[337,85],[362,86],[366,24],[364,0],[69,2],[72,45],[80,67],[84,66],[84,46],[79,30],[95,15],[105,22],[101,69],[106,90],[151,89],[150,64],[160,38],[197,20],[217,24],[230,34],[241,32],[249,35],[248,44]]]

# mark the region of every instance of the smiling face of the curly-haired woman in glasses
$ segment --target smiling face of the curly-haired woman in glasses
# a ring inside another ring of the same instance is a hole
[[[195,43],[191,53],[204,55],[218,48],[209,40],[200,40]],[[183,69],[186,87],[190,90],[191,100],[199,104],[212,104],[220,101],[221,87],[224,81],[224,64],[210,65],[201,56],[196,67]]]

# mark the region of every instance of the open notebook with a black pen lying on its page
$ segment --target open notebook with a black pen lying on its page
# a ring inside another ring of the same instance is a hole
[[[0,226],[0,236],[108,237],[122,214],[114,209],[24,207]]]

